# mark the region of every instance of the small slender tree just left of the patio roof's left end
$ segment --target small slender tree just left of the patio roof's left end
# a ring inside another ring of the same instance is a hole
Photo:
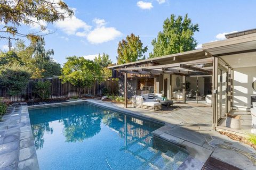
[[[112,64],[112,61],[109,59],[108,54],[103,53],[102,56],[99,54],[98,57],[94,58],[94,62],[101,66],[103,77],[111,77],[112,71],[108,69],[108,66]]]

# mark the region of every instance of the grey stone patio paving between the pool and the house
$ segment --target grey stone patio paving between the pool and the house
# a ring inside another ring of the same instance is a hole
[[[240,169],[256,169],[256,150],[212,130],[212,108],[207,105],[175,104],[180,109],[163,114],[131,106],[124,108],[121,104],[106,101],[94,99],[87,101],[151,121],[164,122],[165,126],[157,129],[153,134],[185,147],[190,154],[179,169],[201,169],[209,158],[221,160]]]

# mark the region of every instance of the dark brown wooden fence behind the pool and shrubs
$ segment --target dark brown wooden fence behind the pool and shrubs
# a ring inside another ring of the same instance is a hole
[[[79,90],[81,91],[82,96],[86,95],[102,95],[102,90],[107,89],[109,94],[118,94],[118,81],[115,80],[105,80],[101,83],[95,81],[95,92],[94,87],[87,89],[82,88],[79,89],[78,87],[73,86],[71,83],[61,83],[61,80],[58,78],[52,79],[32,79],[28,83],[28,87],[26,89],[25,94],[17,95],[17,96],[9,96],[7,94],[7,89],[5,87],[0,86],[0,96],[9,98],[12,101],[24,101],[24,100],[31,100],[31,99],[39,99],[37,94],[35,94],[35,86],[34,83],[38,81],[50,81],[51,82],[51,99],[56,98],[69,98],[78,96]]]

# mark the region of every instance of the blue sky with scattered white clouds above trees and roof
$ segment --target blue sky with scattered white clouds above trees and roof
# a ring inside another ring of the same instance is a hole
[[[134,33],[140,36],[148,53],[153,50],[151,40],[162,31],[163,21],[173,13],[188,13],[193,23],[199,24],[195,33],[198,44],[223,39],[225,32],[256,28],[256,1],[173,1],[173,0],[65,0],[74,8],[75,15],[66,21],[47,25],[55,30],[45,36],[46,49],[54,49],[53,58],[63,64],[66,56],[109,54],[115,63],[118,42]],[[20,28],[32,32],[34,27]],[[14,44],[14,41],[13,41]],[[6,50],[7,40],[0,39],[0,48]],[[146,56],[148,56],[148,53]]]

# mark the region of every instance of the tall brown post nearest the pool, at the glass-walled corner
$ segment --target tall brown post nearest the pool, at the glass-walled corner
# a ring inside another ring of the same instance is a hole
[[[213,58],[213,70],[212,70],[212,125],[213,129],[217,127],[218,123],[218,57]]]

